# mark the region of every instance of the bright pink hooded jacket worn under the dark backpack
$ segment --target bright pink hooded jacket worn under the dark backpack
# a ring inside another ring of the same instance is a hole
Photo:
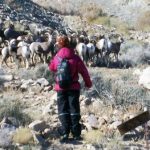
[[[56,56],[53,58],[53,60],[49,64],[49,69],[53,72],[57,71],[57,65],[59,64],[58,56],[61,58],[69,59],[69,63],[71,66],[71,76],[73,77],[73,83],[69,89],[80,89],[80,83],[79,83],[79,73],[83,77],[83,80],[85,82],[85,87],[90,88],[92,86],[92,82],[88,73],[88,70],[86,69],[83,61],[80,59],[79,56],[77,56],[74,53],[74,50],[69,48],[61,48]],[[61,89],[58,85],[58,83],[55,84],[55,90],[60,91],[64,90]]]

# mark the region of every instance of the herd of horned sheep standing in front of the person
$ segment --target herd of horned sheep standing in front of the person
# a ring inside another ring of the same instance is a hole
[[[1,29],[1,66],[4,66],[4,63],[8,66],[8,58],[17,67],[20,67],[21,60],[26,68],[36,65],[39,61],[48,63],[49,58],[53,57],[58,50],[56,38],[60,35],[61,33],[52,29],[33,35],[30,32],[15,31],[13,25],[10,25],[8,29]],[[120,46],[124,41],[120,35],[116,42],[112,42],[104,35],[91,37],[85,32],[72,33],[67,36],[70,46],[86,65],[101,59],[108,66],[111,61],[110,54],[114,54],[115,61],[118,61]]]

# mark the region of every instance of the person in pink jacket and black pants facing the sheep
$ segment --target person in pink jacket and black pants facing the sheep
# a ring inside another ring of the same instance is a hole
[[[91,88],[92,82],[83,61],[69,45],[67,36],[58,37],[56,42],[59,50],[49,64],[49,69],[55,72],[56,76],[55,90],[57,91],[58,115],[62,124],[62,138],[60,141],[66,142],[70,131],[75,140],[80,140],[81,124],[79,121],[81,116],[79,96],[81,87],[78,81],[78,74],[81,74],[83,77],[85,87]],[[66,66],[68,67],[67,69],[65,68]],[[62,70],[65,70],[64,74],[61,72]],[[67,74],[65,74],[66,72]]]

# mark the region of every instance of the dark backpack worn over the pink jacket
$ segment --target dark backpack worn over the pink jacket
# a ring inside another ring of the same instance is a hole
[[[69,88],[72,83],[71,70],[69,61],[65,58],[57,56],[59,64],[57,66],[56,81],[62,89]]]

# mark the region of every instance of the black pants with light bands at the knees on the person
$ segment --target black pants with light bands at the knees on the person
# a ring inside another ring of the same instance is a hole
[[[79,96],[79,90],[57,92],[58,115],[62,124],[62,134],[69,135],[70,131],[73,136],[81,134]]]

